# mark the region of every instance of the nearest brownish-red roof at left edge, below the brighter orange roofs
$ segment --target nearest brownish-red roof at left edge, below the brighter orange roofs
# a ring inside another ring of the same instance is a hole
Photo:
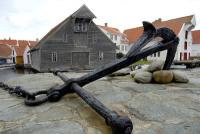
[[[0,44],[0,58],[9,58],[11,56],[12,49],[5,44]]]

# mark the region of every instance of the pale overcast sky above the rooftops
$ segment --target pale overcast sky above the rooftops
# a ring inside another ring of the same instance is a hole
[[[41,39],[83,4],[97,16],[94,22],[121,31],[142,21],[195,15],[200,29],[200,0],[0,0],[0,39]]]

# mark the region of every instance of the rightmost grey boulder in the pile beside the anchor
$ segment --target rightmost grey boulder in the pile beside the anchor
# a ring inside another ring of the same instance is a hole
[[[188,83],[189,79],[187,78],[186,74],[184,72],[178,71],[178,70],[173,70],[173,75],[174,75],[174,82],[178,83]]]

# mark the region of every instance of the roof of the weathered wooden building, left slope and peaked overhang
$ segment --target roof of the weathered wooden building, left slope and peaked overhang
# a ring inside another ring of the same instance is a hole
[[[42,41],[47,39],[50,35],[55,33],[64,24],[66,24],[70,17],[73,17],[73,18],[90,18],[90,19],[96,18],[96,16],[90,11],[90,9],[86,5],[81,6],[76,12],[74,12],[72,15],[70,15],[65,20],[63,20],[58,25],[56,25],[54,28],[52,28],[34,47],[32,47],[31,51],[38,49],[40,43],[42,43]]]

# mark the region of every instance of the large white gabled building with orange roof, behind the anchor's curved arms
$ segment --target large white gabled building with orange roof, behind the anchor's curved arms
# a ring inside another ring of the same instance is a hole
[[[177,52],[174,60],[182,61],[189,60],[192,53],[192,33],[191,30],[195,27],[196,21],[195,16],[186,16],[167,21],[158,19],[152,23],[156,28],[167,27],[174,31],[179,37],[180,41],[178,44]],[[143,33],[143,27],[127,29],[124,31],[131,44]],[[167,51],[162,51],[148,56],[148,60],[165,60]]]

